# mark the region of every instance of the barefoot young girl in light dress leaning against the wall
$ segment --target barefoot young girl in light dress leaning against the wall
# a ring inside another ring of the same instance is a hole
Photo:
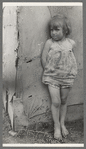
[[[65,16],[54,16],[49,23],[49,29],[51,39],[46,41],[42,53],[42,82],[48,85],[51,96],[54,138],[62,140],[62,136],[68,135],[65,127],[67,97],[77,74],[73,54],[75,42],[67,37],[71,32],[71,26]]]

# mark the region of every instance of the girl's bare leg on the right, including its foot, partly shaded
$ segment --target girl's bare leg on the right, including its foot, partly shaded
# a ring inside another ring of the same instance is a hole
[[[66,137],[68,135],[68,130],[65,127],[65,117],[66,117],[66,111],[67,111],[67,97],[68,93],[70,91],[70,88],[61,88],[61,110],[60,110],[60,124],[61,124],[61,131],[63,137]]]

